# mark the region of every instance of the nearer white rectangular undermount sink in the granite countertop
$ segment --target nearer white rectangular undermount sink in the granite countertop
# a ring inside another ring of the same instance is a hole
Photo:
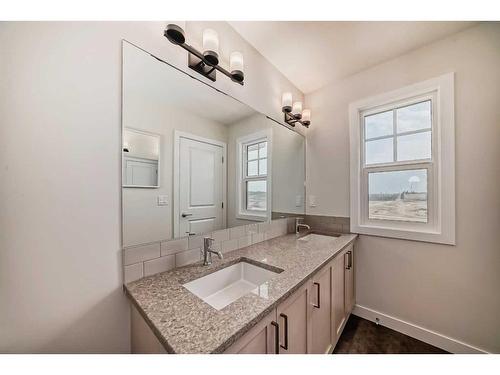
[[[240,261],[183,286],[217,310],[248,293],[267,298],[267,281],[278,272]]]

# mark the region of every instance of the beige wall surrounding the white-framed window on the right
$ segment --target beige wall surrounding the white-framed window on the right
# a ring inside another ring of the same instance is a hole
[[[457,246],[361,236],[357,303],[500,352],[500,23],[481,24],[307,95],[308,214],[349,216],[350,102],[455,75]],[[446,192],[445,192],[446,193]]]

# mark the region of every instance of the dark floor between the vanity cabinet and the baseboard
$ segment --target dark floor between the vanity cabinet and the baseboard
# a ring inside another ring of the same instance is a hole
[[[351,315],[334,354],[443,354],[446,351]]]

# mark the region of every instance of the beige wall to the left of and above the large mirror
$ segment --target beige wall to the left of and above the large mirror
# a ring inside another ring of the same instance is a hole
[[[186,25],[190,30],[198,23]],[[121,40],[187,70],[166,22],[0,23],[0,352],[128,352],[120,230]],[[247,83],[281,118],[300,92],[224,22]]]

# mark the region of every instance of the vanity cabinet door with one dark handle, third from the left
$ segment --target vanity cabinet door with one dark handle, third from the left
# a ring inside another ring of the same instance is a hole
[[[324,267],[313,276],[311,284],[311,353],[328,353],[331,340],[331,267]]]

